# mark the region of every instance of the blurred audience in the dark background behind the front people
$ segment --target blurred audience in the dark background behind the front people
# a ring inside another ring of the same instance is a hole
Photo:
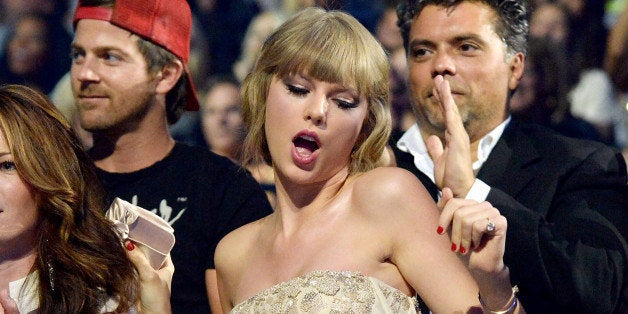
[[[239,83],[266,36],[308,6],[346,11],[376,36],[392,65],[392,140],[414,123],[397,1],[190,0],[190,5],[189,65],[201,110],[186,112],[171,126],[175,139],[238,160],[245,132]],[[512,95],[513,114],[613,145],[628,158],[628,0],[535,0],[531,5],[530,46],[522,84]],[[67,72],[75,6],[76,0],[0,0],[0,83],[41,90],[69,119],[74,118]],[[77,131],[89,146],[89,134]],[[272,182],[263,165],[251,170],[260,182]]]

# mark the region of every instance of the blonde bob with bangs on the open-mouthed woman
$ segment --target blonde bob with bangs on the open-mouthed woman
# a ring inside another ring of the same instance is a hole
[[[243,165],[272,164],[265,137],[266,98],[273,77],[304,74],[356,88],[368,115],[353,147],[350,172],[380,165],[391,130],[388,58],[369,31],[340,11],[307,8],[282,24],[264,42],[255,67],[242,85],[248,129]]]

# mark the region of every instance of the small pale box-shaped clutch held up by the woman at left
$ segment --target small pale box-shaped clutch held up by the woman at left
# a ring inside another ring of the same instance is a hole
[[[161,268],[174,246],[174,229],[165,220],[117,197],[105,216],[113,221],[123,240],[141,244],[139,247],[154,269]]]

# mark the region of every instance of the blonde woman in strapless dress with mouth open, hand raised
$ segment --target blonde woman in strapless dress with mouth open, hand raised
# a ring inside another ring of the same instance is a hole
[[[436,313],[523,311],[497,209],[444,189],[439,212],[412,174],[377,167],[391,129],[388,69],[342,12],[305,9],[265,42],[243,84],[244,154],[272,165],[277,206],[220,242],[224,311],[414,313],[416,293]],[[457,256],[462,241],[472,246]]]

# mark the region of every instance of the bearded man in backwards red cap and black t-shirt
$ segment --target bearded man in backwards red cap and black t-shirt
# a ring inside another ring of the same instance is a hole
[[[231,230],[271,212],[257,182],[228,159],[175,143],[168,124],[197,110],[185,0],[81,0],[72,89],[109,197],[155,211],[175,230],[175,313],[219,309],[214,250]],[[215,301],[214,301],[215,300]]]

